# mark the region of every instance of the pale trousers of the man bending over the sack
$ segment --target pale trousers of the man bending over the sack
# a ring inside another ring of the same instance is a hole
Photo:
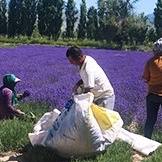
[[[94,102],[98,106],[102,106],[105,108],[108,108],[110,110],[114,109],[114,104],[115,104],[115,95],[112,95],[107,98],[100,98]]]

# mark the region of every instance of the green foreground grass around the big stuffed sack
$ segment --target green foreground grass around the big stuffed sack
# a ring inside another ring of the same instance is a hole
[[[116,140],[106,152],[95,157],[85,159],[62,159],[49,148],[32,146],[28,133],[33,132],[34,124],[47,111],[48,104],[22,103],[18,106],[26,114],[33,112],[35,120],[29,117],[24,119],[1,120],[0,121],[0,152],[16,151],[23,153],[24,162],[132,162],[134,154],[131,146],[123,141]],[[141,128],[140,128],[141,129]],[[154,140],[162,142],[161,134],[155,132]],[[68,148],[67,148],[68,149]],[[159,147],[152,156],[145,158],[144,162],[161,162],[162,147]]]

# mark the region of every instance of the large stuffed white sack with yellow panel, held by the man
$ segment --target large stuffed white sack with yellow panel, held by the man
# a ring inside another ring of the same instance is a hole
[[[92,104],[93,97],[92,93],[75,95],[74,103],[65,106],[48,130],[29,133],[31,143],[50,147],[66,158],[105,151],[117,138],[123,121],[117,112]]]

